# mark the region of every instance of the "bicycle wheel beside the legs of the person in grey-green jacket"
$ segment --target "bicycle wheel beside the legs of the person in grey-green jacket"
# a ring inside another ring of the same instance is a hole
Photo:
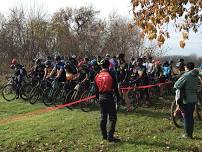
[[[176,102],[173,101],[171,104],[171,112],[170,112],[172,122],[177,128],[183,128],[183,126],[184,126],[183,115],[182,115],[181,111],[176,111],[176,109],[177,109]]]

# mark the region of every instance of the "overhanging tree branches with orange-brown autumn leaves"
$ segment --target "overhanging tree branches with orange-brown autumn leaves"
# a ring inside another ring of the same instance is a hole
[[[168,23],[174,22],[182,33],[180,47],[185,47],[190,30],[198,31],[202,23],[201,0],[131,0],[135,23],[149,40],[161,46],[169,38]]]

